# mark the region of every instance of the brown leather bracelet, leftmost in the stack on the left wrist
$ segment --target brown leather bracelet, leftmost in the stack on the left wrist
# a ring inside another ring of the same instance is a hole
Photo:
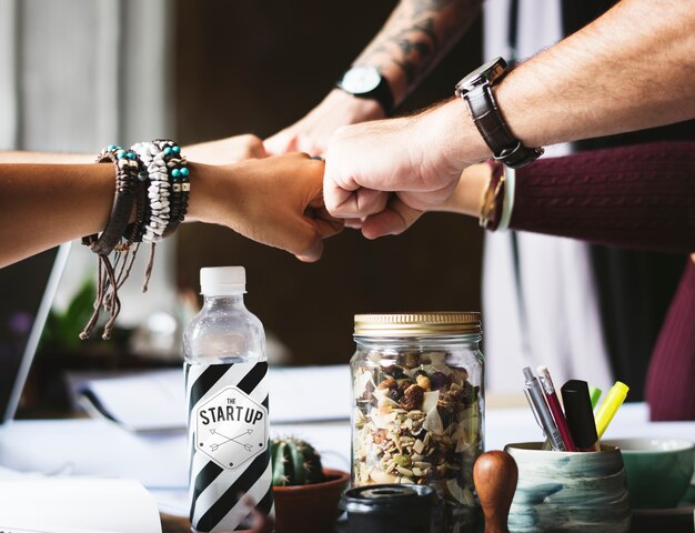
[[[99,255],[109,255],[123,238],[130,221],[138,193],[139,163],[134,152],[114,145],[103,149],[97,162],[111,162],[115,167],[115,195],[111,215],[101,234],[83,237],[82,244]]]

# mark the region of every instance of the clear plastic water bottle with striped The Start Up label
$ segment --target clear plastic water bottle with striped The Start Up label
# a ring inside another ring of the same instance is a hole
[[[202,269],[203,309],[183,334],[195,532],[248,529],[242,496],[274,511],[265,333],[244,305],[245,282],[243,266]]]

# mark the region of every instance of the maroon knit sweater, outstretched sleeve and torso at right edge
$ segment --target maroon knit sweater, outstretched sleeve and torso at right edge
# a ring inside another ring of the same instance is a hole
[[[514,230],[638,250],[695,252],[695,142],[542,159],[516,171]],[[652,353],[652,420],[695,420],[695,263]]]

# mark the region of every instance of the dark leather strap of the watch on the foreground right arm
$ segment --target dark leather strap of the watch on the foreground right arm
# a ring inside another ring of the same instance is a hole
[[[524,147],[508,130],[492,94],[492,86],[482,83],[463,94],[469,103],[473,123],[493,152],[495,160],[513,169],[537,159],[542,148]]]

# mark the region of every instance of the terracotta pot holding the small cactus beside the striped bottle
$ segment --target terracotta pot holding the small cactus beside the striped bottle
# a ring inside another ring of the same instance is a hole
[[[326,481],[274,486],[276,533],[329,533],[340,515],[338,502],[350,483],[342,470],[323,469]]]

